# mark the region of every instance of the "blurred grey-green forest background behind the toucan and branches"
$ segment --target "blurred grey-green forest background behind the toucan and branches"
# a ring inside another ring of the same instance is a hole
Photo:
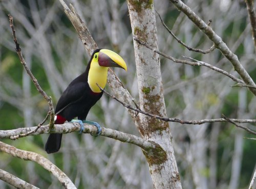
[[[70,0],[100,48],[119,53],[127,73],[115,69],[131,95],[138,100],[133,37],[125,1]],[[252,79],[256,81],[256,56],[244,1],[184,1],[221,36]],[[209,49],[211,41],[173,4],[156,0],[155,9],[169,29],[187,45]],[[78,76],[89,56],[58,1],[0,1],[0,127],[1,130],[32,127],[49,108],[20,64],[14,50],[7,14],[14,18],[23,55],[41,87],[54,105],[70,81]],[[159,49],[170,56],[192,57],[238,76],[218,51],[203,55],[180,45],[162,26],[159,17]],[[256,98],[246,88],[231,87],[231,79],[205,67],[174,63],[161,57],[168,117],[186,120],[230,118],[255,119]],[[106,87],[110,91],[109,87]],[[103,95],[88,119],[103,127],[139,135],[121,104]],[[230,123],[181,125],[170,123],[175,155],[183,188],[247,188],[255,169],[256,141],[253,135]],[[244,124],[255,130],[255,126]],[[153,188],[140,148],[106,137],[65,134],[59,153],[48,155],[48,135],[4,139],[23,150],[48,157],[78,188]],[[38,164],[0,153],[0,168],[40,188],[61,184]],[[0,180],[0,188],[11,188]]]

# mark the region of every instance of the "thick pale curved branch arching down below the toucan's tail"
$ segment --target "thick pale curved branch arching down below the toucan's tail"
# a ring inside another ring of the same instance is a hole
[[[70,178],[44,156],[35,152],[19,150],[13,146],[3,143],[2,141],[0,141],[0,150],[23,160],[34,161],[40,164],[40,166],[42,166],[49,172],[51,172],[65,188],[76,188]]]

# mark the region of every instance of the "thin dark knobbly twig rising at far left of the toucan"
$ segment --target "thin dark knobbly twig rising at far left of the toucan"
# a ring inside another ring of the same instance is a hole
[[[13,41],[16,45],[16,52],[18,54],[18,57],[19,57],[19,60],[20,60],[20,63],[22,63],[22,65],[24,66],[27,74],[29,75],[29,77],[31,78],[31,80],[33,81],[36,89],[38,90],[38,92],[42,95],[42,97],[44,97],[44,99],[48,102],[48,105],[49,105],[49,109],[50,109],[50,128],[53,128],[54,127],[54,108],[53,108],[53,104],[52,104],[52,98],[51,97],[48,97],[48,95],[46,94],[46,92],[44,90],[42,90],[42,88],[40,87],[39,83],[37,82],[37,79],[34,77],[34,75],[32,74],[31,70],[29,69],[29,67],[27,66],[27,63],[23,57],[23,54],[22,54],[22,49],[20,49],[20,46],[19,46],[19,43],[17,41],[17,37],[16,37],[16,31],[15,31],[15,28],[14,28],[14,25],[13,25],[13,17],[8,14],[9,16],[9,21],[10,21],[10,27],[12,29],[12,35],[13,35]],[[47,118],[48,118],[48,115],[47,115]],[[38,125],[38,127],[40,127],[41,124]],[[33,132],[36,132],[33,131]],[[28,134],[29,135],[29,134]],[[15,138],[18,138],[20,136],[14,136]]]

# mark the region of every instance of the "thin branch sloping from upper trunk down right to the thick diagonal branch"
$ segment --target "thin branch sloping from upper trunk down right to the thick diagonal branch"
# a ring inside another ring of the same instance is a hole
[[[159,54],[159,55],[161,55],[161,56],[163,56],[163,57],[165,57],[165,58],[167,58],[169,60],[172,60],[173,62],[182,63],[182,64],[188,64],[188,65],[191,65],[191,66],[205,66],[205,67],[208,67],[208,68],[210,68],[212,70],[215,70],[216,72],[224,74],[225,76],[229,77],[230,79],[232,79],[235,82],[238,82],[238,83],[241,83],[241,84],[245,85],[245,82],[243,80],[238,79],[237,77],[234,77],[233,75],[229,74],[228,72],[226,72],[225,70],[223,70],[221,68],[218,68],[218,67],[213,66],[211,64],[208,64],[206,62],[199,61],[199,60],[196,60],[196,59],[193,59],[193,58],[190,58],[190,57],[188,58],[188,57],[184,57],[183,56],[184,58],[187,58],[187,59],[190,59],[190,60],[194,60],[196,62],[191,62],[191,61],[177,59],[177,58],[168,56],[168,55],[166,55],[166,54],[164,54],[164,53],[162,53],[162,52],[152,48],[150,45],[146,44],[145,42],[143,42],[143,41],[141,41],[141,40],[139,40],[137,38],[135,38],[135,40],[138,41],[138,43],[140,43],[141,45],[146,46],[146,48],[152,50],[153,52],[155,52],[155,53],[157,53],[157,54]]]

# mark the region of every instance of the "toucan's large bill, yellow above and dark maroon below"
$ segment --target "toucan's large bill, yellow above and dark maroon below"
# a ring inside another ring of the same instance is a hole
[[[127,66],[118,54],[108,49],[101,49],[99,51],[98,63],[104,67],[120,67],[127,71]]]

